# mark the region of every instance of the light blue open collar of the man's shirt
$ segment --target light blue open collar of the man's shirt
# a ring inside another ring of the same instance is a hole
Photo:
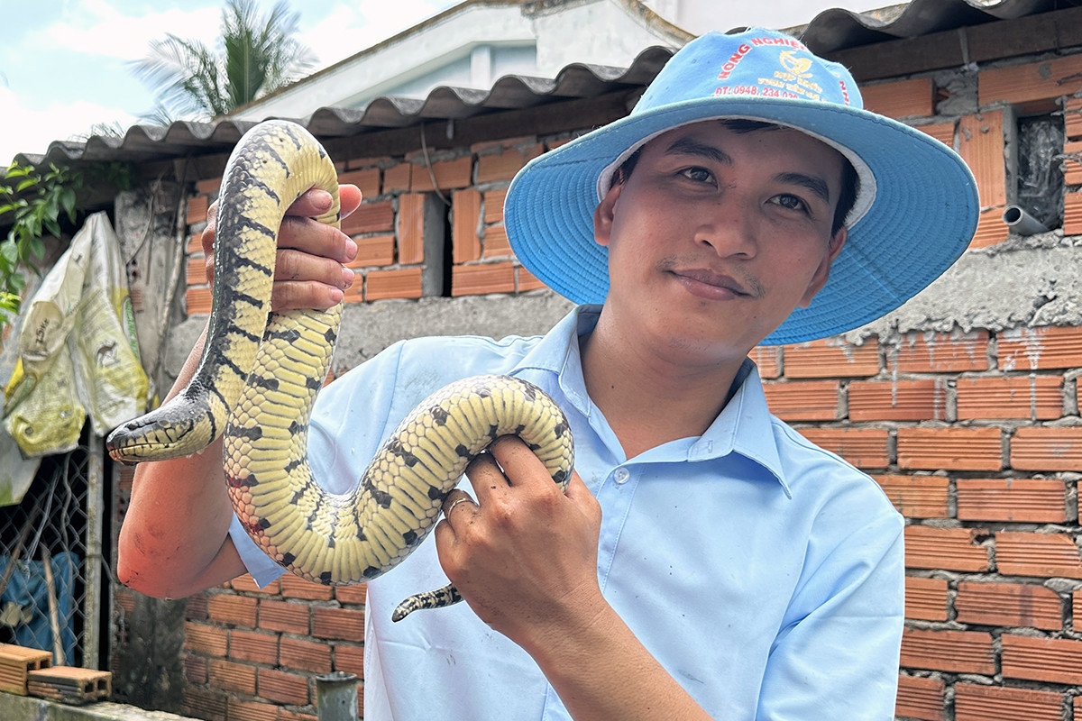
[[[533,369],[556,374],[567,401],[584,416],[594,404],[586,395],[579,355],[579,336],[591,333],[597,324],[602,306],[578,306],[545,334],[515,366],[514,374]],[[767,470],[792,497],[782,473],[782,464],[767,408],[758,369],[749,358],[741,364],[734,382],[737,390],[707,431],[687,450],[687,460],[701,462],[739,453]]]

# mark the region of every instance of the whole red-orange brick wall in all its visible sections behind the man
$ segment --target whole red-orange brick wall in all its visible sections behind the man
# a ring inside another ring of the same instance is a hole
[[[870,85],[869,107],[954,146],[978,179],[972,248],[1007,239],[1004,165],[1011,107],[1066,109],[1068,151],[1082,144],[1082,55],[984,69],[979,111],[936,114],[951,89],[933,78]],[[351,303],[414,298],[424,263],[421,193],[450,203],[450,295],[540,283],[506,244],[512,175],[551,147],[511,138],[432,156],[341,159],[365,204],[346,223],[361,248]],[[1008,153],[1006,153],[1008,155]],[[1082,235],[1082,163],[1066,162],[1064,231]],[[188,223],[198,230],[211,179]],[[189,313],[209,309],[198,236],[189,243]],[[1073,269],[1078,272],[1079,269]],[[907,628],[897,713],[926,721],[1082,719],[1082,328],[955,329],[842,338],[754,353],[774,411],[871,473],[906,516]],[[187,712],[206,719],[314,719],[315,676],[362,677],[364,587],[250,578],[192,599]]]

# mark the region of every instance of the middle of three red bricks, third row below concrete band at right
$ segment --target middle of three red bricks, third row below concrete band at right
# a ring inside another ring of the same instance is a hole
[[[1000,470],[999,428],[899,428],[898,466],[926,470]]]

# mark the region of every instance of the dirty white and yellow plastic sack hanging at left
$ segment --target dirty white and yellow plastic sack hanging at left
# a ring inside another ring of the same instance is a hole
[[[87,415],[104,436],[146,408],[119,240],[105,213],[87,218],[42,280],[18,351],[4,388],[4,428],[26,456],[75,448]]]

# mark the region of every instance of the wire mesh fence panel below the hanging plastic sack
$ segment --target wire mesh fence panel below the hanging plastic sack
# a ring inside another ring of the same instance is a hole
[[[0,642],[49,651],[55,665],[101,664],[101,467],[84,430],[0,508]]]

